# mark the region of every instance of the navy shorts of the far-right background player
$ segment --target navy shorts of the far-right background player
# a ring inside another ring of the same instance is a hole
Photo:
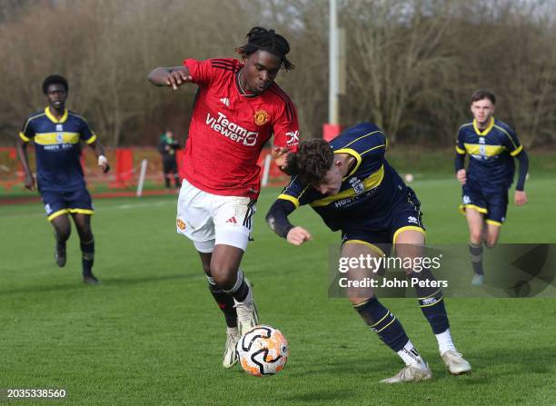
[[[508,211],[508,190],[498,193],[482,192],[465,183],[462,187],[460,211],[474,209],[484,215],[486,223],[502,225]]]

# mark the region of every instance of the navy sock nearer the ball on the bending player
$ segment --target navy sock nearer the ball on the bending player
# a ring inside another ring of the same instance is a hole
[[[407,334],[403,331],[402,323],[398,322],[377,298],[372,297],[353,308],[359,313],[362,320],[378,334],[382,342],[392,348],[394,352],[399,352],[409,342]]]

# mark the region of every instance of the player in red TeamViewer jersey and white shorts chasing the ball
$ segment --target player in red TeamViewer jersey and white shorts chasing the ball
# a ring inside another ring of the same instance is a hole
[[[281,68],[294,67],[286,58],[290,46],[282,35],[261,27],[247,38],[237,49],[243,62],[184,59],[183,66],[158,67],[148,76],[152,84],[174,90],[186,83],[199,86],[185,144],[176,226],[193,241],[209,290],[223,310],[225,368],[236,362],[241,334],[258,324],[251,284],[240,262],[260,192],[259,154],[274,136],[274,162],[287,172],[289,153],[299,144],[295,106],[274,83]]]

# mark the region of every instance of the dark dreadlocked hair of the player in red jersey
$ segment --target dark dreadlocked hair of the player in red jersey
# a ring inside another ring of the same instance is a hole
[[[283,70],[291,71],[295,68],[295,65],[285,56],[290,52],[290,45],[282,35],[276,34],[274,30],[255,26],[245,36],[248,38],[247,44],[236,49],[238,54],[247,57],[257,51],[266,51],[280,58],[280,67]]]

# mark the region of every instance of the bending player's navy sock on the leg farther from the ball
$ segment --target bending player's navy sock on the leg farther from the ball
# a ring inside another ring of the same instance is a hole
[[[416,278],[419,281],[436,281],[436,278],[429,269],[424,269],[422,272],[412,272],[408,277],[410,280]],[[430,285],[431,283],[428,284]],[[415,285],[415,292],[419,298],[422,314],[431,324],[432,332],[435,334],[445,332],[450,327],[450,323],[448,322],[448,313],[446,313],[446,307],[444,306],[442,290],[440,288],[421,287],[417,284]]]

